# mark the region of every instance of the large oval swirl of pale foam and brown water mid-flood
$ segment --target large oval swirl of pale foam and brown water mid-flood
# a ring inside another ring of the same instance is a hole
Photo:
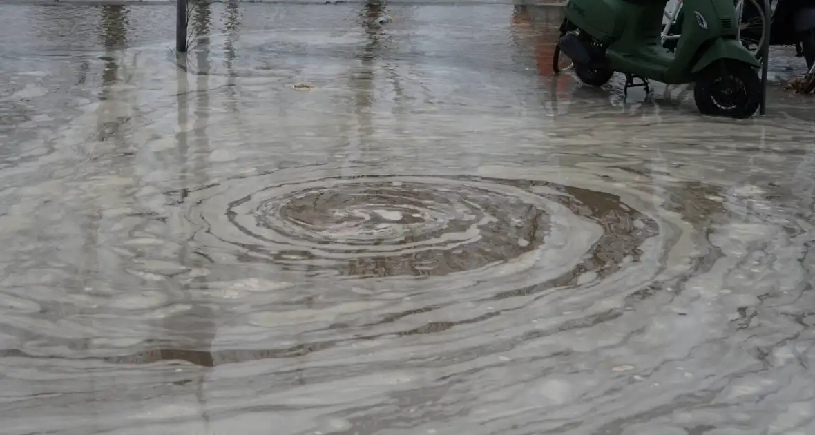
[[[491,268],[507,274],[499,269],[534,261],[571,272],[548,276],[568,283],[587,271],[619,269],[658,232],[652,219],[616,196],[549,182],[441,176],[249,182],[261,179],[242,179],[244,187],[229,184],[222,194],[198,201],[205,234],[240,248],[242,262],[306,275],[450,275]]]

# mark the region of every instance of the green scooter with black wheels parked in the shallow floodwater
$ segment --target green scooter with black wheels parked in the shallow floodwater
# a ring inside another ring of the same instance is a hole
[[[662,44],[667,0],[568,0],[557,47],[587,85],[603,86],[615,72],[629,87],[648,81],[695,82],[694,100],[705,115],[747,118],[761,102],[759,61],[738,41],[733,0],[684,0],[674,52]],[[689,15],[690,16],[690,15]],[[641,83],[635,84],[639,79]]]

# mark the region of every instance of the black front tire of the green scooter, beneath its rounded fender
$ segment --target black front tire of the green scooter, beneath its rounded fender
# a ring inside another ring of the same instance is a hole
[[[722,83],[725,80],[723,73],[730,86],[740,85],[735,92],[736,98],[726,102],[726,106],[725,102],[716,99],[717,91],[727,86]],[[727,60],[724,65],[718,62],[708,65],[694,85],[694,101],[703,115],[738,119],[753,116],[761,103],[761,81],[756,68],[735,60]]]

